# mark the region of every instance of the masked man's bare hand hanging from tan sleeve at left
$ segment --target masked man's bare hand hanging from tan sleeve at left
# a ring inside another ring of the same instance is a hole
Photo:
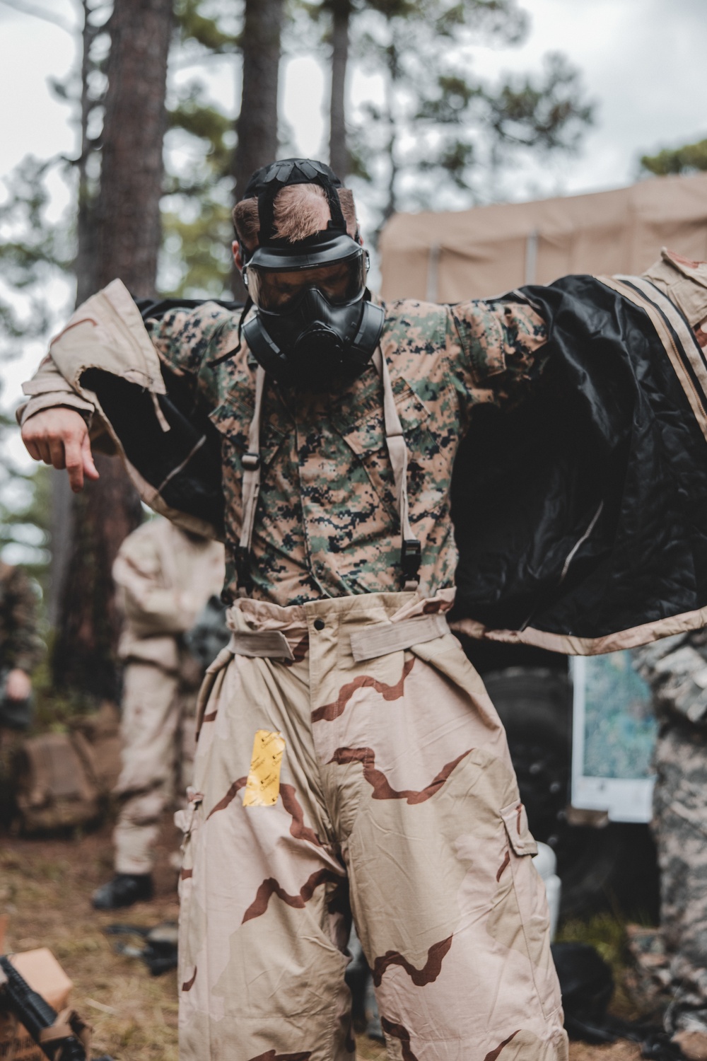
[[[35,413],[24,421],[22,441],[35,460],[66,468],[74,493],[83,489],[84,475],[99,477],[86,421],[73,408],[57,405]]]

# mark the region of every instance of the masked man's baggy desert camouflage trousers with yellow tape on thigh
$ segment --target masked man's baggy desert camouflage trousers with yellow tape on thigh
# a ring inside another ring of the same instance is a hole
[[[353,657],[352,634],[450,597],[231,609],[291,659],[224,650],[207,672],[177,816],[181,1061],[352,1059],[352,912],[389,1058],[566,1057],[536,848],[480,678],[448,632]]]

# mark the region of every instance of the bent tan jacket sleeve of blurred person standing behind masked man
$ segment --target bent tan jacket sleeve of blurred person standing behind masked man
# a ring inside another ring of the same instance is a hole
[[[119,601],[131,633],[138,638],[183,633],[196,620],[198,602],[169,585],[159,549],[149,534],[125,539],[112,569]]]

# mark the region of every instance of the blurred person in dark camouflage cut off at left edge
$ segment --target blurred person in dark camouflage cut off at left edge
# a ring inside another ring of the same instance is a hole
[[[40,656],[30,580],[19,568],[0,561],[0,730],[30,725],[30,673]]]

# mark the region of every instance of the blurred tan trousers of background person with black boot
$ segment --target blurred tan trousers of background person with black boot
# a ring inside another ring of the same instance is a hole
[[[126,665],[122,769],[113,789],[120,806],[113,831],[117,873],[152,871],[160,816],[175,797],[183,805],[192,780],[195,710],[196,691],[184,689],[178,674],[153,663]]]

